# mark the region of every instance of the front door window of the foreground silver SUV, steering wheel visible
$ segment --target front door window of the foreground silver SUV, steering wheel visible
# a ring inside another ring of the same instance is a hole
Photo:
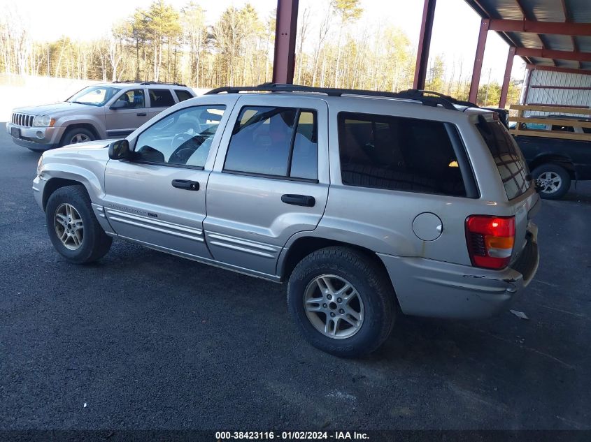
[[[134,161],[203,168],[224,105],[204,105],[167,115],[139,135]]]

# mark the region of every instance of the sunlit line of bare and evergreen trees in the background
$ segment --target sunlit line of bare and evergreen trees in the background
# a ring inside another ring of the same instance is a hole
[[[325,0],[301,8],[294,82],[320,87],[398,91],[412,87],[416,48],[400,29],[362,26],[359,0]],[[183,82],[192,87],[270,81],[276,11],[262,17],[252,5],[230,6],[213,24],[204,8],[176,10],[164,0],[138,8],[104,38],[39,42],[15,10],[0,17],[0,71],[90,80]],[[433,57],[427,89],[467,99],[471,66],[449,68]],[[513,82],[508,102],[517,102]],[[480,87],[478,101],[495,105],[500,87]]]

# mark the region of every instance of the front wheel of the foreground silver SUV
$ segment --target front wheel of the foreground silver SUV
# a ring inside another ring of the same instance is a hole
[[[53,246],[72,263],[92,263],[111,248],[113,239],[94,216],[83,186],[60,187],[52,193],[45,221]]]

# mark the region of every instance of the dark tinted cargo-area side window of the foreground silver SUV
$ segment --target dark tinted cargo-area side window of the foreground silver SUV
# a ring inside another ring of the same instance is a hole
[[[466,196],[441,121],[348,112],[338,118],[343,184]]]

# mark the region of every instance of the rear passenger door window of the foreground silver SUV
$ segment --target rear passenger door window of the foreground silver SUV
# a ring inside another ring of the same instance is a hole
[[[317,179],[315,112],[260,106],[242,108],[229,142],[224,170]]]

